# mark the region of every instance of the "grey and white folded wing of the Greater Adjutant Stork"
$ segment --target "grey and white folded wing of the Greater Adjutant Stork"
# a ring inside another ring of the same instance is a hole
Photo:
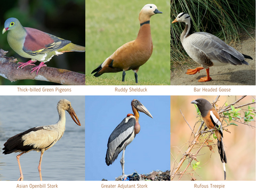
[[[117,125],[116,129],[110,134],[108,139],[108,149],[106,154],[106,164],[112,164],[118,154],[132,142],[135,137],[134,126],[135,117],[125,117],[123,121]],[[124,145],[125,144],[125,145]]]

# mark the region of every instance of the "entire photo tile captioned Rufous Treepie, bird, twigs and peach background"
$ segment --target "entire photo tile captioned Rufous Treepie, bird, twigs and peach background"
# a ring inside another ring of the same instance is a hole
[[[255,96],[171,96],[171,180],[223,181],[223,164],[227,181],[255,181]]]

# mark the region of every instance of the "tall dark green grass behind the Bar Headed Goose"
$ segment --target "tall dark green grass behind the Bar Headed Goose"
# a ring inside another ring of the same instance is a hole
[[[239,43],[241,29],[251,36],[248,29],[255,28],[254,0],[171,1],[171,22],[181,12],[190,15],[195,31],[211,33],[227,44]],[[171,70],[191,63],[180,42],[184,28],[185,23],[171,24]]]

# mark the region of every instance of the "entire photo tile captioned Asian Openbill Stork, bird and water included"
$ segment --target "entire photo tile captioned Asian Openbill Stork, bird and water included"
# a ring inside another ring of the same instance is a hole
[[[17,181],[20,171],[16,156],[21,151],[14,152],[31,149],[20,156],[23,178],[26,181],[39,181],[37,167],[41,153],[35,150],[46,148],[41,164],[43,181],[84,181],[84,96],[0,96],[0,103],[4,109],[0,111],[0,145],[1,148],[6,147],[2,152],[10,153],[0,153],[0,180]],[[74,121],[65,111],[70,103],[81,126],[75,123],[78,120],[72,109],[70,113]],[[63,132],[65,127],[66,131]],[[20,137],[8,140],[19,133],[22,133]]]

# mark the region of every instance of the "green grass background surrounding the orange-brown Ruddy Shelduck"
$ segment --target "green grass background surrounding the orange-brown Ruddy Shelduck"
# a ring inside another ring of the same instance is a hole
[[[140,67],[138,82],[139,84],[143,82],[153,85],[170,85],[170,1],[148,2],[146,0],[136,3],[134,1],[86,0],[86,85],[122,84],[122,72],[106,73],[97,78],[91,75],[91,72],[118,47],[137,37],[140,28],[139,12],[148,3],[155,4],[163,14],[156,14],[150,19],[153,54]],[[126,71],[125,83],[135,84],[132,70]]]

